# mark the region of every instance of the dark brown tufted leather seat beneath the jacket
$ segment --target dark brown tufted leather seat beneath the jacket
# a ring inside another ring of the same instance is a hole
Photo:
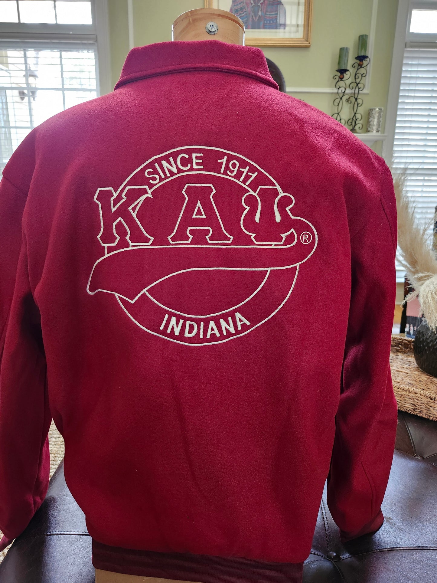
[[[325,493],[304,583],[437,582],[437,422],[399,413],[396,448],[382,528],[342,545]],[[94,583],[91,539],[62,466],[0,564],[1,583]]]

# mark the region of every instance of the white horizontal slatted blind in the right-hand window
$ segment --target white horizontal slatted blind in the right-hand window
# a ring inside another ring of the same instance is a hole
[[[402,68],[393,166],[406,168],[407,194],[429,224],[437,205],[437,48],[406,48]],[[405,272],[396,266],[397,280]]]

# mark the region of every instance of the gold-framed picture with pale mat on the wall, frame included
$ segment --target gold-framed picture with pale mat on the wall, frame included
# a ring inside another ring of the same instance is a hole
[[[228,10],[241,18],[247,45],[311,45],[312,0],[205,0],[205,8]]]

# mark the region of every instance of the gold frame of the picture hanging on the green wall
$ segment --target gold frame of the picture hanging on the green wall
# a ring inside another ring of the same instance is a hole
[[[292,0],[297,2],[297,0]],[[290,0],[283,0],[283,5]],[[298,37],[286,36],[287,30],[263,30],[263,36],[256,36],[256,29],[246,29],[245,44],[251,47],[310,47],[311,46],[311,20],[312,20],[312,0],[302,0],[304,2],[303,13],[299,15],[303,22],[286,24],[295,27],[301,32]],[[220,8],[229,10],[232,0],[205,0],[205,8]]]

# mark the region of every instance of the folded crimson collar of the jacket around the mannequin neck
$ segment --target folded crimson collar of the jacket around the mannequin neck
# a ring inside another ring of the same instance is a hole
[[[257,79],[278,89],[259,48],[218,40],[170,41],[133,48],[115,89],[157,75],[182,71],[224,71]]]

